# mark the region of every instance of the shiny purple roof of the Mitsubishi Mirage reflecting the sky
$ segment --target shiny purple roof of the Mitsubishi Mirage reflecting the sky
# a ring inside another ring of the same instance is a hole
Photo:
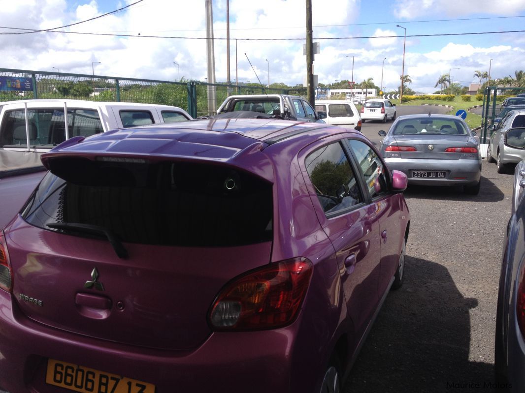
[[[300,135],[312,141],[340,133],[361,133],[327,124],[280,119],[204,119],[117,129],[88,138],[74,137],[42,156],[133,155],[186,157],[226,162],[242,151],[259,151]],[[309,143],[306,141],[305,143]],[[47,165],[46,165],[47,166]]]

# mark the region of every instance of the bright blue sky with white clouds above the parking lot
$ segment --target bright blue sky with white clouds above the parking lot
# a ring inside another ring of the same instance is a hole
[[[137,1],[0,0],[0,67],[204,82],[205,0],[142,0],[55,31],[20,30],[54,29]],[[311,1],[320,83],[373,78],[396,90],[404,45],[404,74],[421,93],[439,90],[443,74],[468,86],[478,70],[495,79],[525,69],[525,31],[480,34],[525,30],[525,0]],[[227,80],[226,2],[212,2],[217,82]],[[306,0],[229,0],[229,28],[230,80],[303,83]]]

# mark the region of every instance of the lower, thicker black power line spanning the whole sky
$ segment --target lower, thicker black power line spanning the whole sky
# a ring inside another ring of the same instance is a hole
[[[143,0],[139,0],[143,1]],[[137,2],[138,3],[138,2]],[[133,3],[136,4],[136,3]],[[103,16],[103,15],[101,15]],[[80,23],[80,22],[79,22]],[[4,27],[0,28],[13,28],[13,27]],[[58,28],[58,27],[57,27]],[[31,30],[28,32],[54,32],[54,33],[63,33],[63,34],[83,34],[90,36],[111,36],[111,37],[135,37],[135,38],[171,38],[171,39],[195,39],[195,40],[206,40],[209,38],[206,37],[175,37],[175,36],[149,36],[149,35],[132,35],[132,34],[109,34],[109,33],[92,33],[92,32],[80,32],[80,31],[57,31],[53,29],[46,30],[32,30],[24,28],[16,28],[17,30]],[[478,31],[478,32],[466,32],[466,33],[443,33],[443,34],[412,34],[407,35],[406,37],[445,37],[445,36],[470,36],[477,34],[505,34],[505,33],[516,33],[516,32],[525,32],[525,30],[507,30],[507,31]],[[17,33],[6,33],[0,32],[0,35],[11,35],[11,34],[25,34],[24,32]],[[362,36],[362,37],[318,37],[314,38],[316,40],[352,40],[352,39],[368,39],[368,38],[402,38],[404,36]],[[226,40],[226,38],[217,38],[214,37],[214,40]],[[304,40],[303,38],[230,38],[230,40],[239,40],[239,41],[298,41]]]

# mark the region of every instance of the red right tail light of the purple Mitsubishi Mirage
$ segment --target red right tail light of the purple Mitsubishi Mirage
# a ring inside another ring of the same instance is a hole
[[[220,291],[209,314],[216,330],[280,328],[293,322],[310,285],[313,265],[295,258],[252,270]]]

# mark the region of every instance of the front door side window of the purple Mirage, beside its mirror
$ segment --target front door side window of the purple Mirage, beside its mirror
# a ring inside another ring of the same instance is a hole
[[[358,165],[361,167],[362,176],[370,198],[383,195],[388,192],[386,184],[386,168],[381,158],[367,144],[360,140],[348,139],[350,148],[354,152]]]

